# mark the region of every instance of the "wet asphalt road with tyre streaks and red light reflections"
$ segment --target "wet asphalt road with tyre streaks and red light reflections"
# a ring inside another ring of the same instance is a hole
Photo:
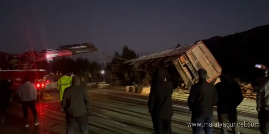
[[[137,93],[125,93],[123,90],[89,90],[90,134],[151,134],[153,126],[147,108],[147,96]],[[8,109],[7,122],[0,125],[0,134],[64,134],[65,114],[60,109],[58,94],[47,93],[44,100],[37,102],[39,113],[39,126],[30,124],[24,128],[22,110],[19,103],[13,102]],[[186,102],[174,101],[174,116],[172,117],[173,134],[191,134],[191,113],[186,107]],[[31,113],[31,112],[30,112]],[[31,115],[29,116],[31,118]],[[258,122],[257,115],[238,112],[239,122]],[[214,122],[217,122],[216,113]],[[245,134],[259,133],[258,127],[240,127],[240,132]],[[230,129],[231,130],[231,129]],[[79,134],[79,129],[76,129]],[[214,127],[214,133],[220,133],[219,128]]]

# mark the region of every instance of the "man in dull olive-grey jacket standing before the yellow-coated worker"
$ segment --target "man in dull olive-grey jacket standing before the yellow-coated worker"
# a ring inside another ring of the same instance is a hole
[[[82,134],[88,134],[89,98],[85,87],[80,84],[79,76],[74,76],[72,86],[64,90],[63,108],[66,114],[66,133],[74,134],[77,122]]]

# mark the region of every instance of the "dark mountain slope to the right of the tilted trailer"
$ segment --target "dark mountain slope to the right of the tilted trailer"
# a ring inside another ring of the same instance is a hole
[[[263,76],[255,64],[269,65],[269,25],[220,37],[202,40],[215,56],[223,70],[231,76],[253,79]]]

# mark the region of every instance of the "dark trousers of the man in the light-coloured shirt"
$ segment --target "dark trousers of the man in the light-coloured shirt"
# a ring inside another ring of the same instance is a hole
[[[35,108],[35,101],[34,100],[32,100],[32,101],[22,101],[21,105],[22,105],[23,117],[25,119],[25,122],[29,123],[29,121],[28,121],[28,108],[30,108],[30,110],[31,110],[31,112],[33,114],[34,122],[38,122],[38,115],[37,115],[37,111],[36,111],[36,108]]]

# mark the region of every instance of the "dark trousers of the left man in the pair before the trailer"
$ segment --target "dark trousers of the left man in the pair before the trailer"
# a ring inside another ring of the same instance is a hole
[[[191,122],[196,123],[195,126],[192,127],[193,134],[201,134],[203,128],[205,130],[205,134],[213,134],[212,129],[213,115],[207,118],[192,116]]]

